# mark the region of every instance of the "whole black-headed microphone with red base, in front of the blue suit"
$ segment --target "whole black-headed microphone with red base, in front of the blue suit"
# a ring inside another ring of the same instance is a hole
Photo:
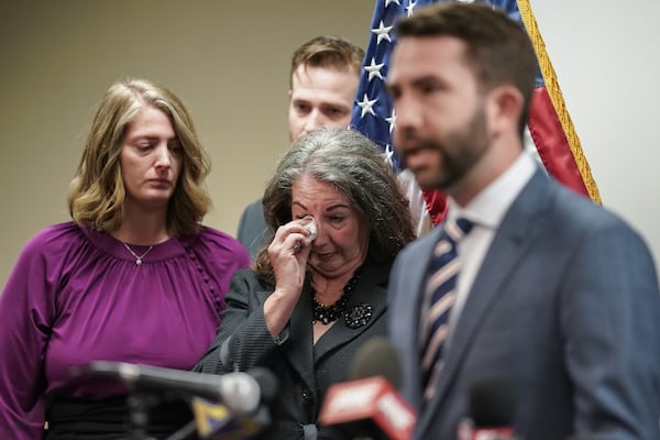
[[[515,440],[515,397],[508,377],[492,375],[469,389],[469,419],[459,425],[459,440]]]

